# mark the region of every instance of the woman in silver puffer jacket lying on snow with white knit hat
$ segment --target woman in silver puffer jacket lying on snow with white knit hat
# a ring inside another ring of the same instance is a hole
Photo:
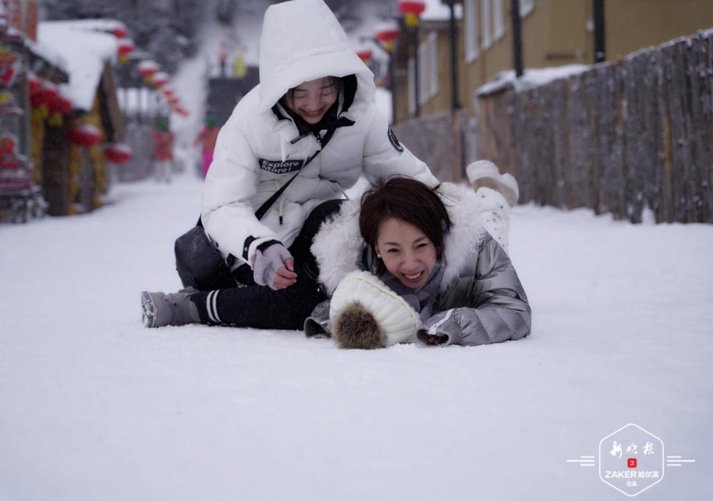
[[[331,334],[342,348],[528,336],[527,296],[477,216],[479,196],[391,177],[372,185],[360,205],[345,203],[312,244],[331,302],[314,309],[305,334]]]

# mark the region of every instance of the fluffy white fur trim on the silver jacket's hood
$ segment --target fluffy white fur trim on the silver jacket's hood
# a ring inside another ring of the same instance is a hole
[[[438,194],[453,222],[453,229],[443,243],[446,264],[441,280],[443,291],[463,267],[475,264],[486,229],[478,217],[478,197],[471,187],[442,182]],[[349,272],[361,268],[366,243],[359,233],[360,202],[360,198],[344,202],[337,216],[322,224],[312,243],[312,254],[319,264],[319,282],[330,295]]]

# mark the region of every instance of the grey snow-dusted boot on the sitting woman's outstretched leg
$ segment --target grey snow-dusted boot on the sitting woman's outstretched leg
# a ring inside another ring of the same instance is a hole
[[[194,293],[194,290],[179,291],[175,294],[143,291],[141,293],[143,325],[163,327],[200,324],[198,306],[190,300],[190,296]]]

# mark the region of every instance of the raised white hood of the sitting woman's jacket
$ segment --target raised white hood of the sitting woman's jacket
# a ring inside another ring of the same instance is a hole
[[[342,25],[323,0],[270,6],[260,38],[260,111],[289,89],[325,76],[356,75],[356,98],[374,100],[374,73],[349,46]]]

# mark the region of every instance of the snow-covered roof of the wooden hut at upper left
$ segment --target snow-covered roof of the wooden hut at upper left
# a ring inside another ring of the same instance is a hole
[[[105,23],[106,21],[106,23]],[[119,21],[83,19],[81,21],[43,21],[37,29],[38,45],[61,53],[69,83],[60,86],[62,95],[75,108],[89,111],[106,61],[116,60],[113,34],[97,31],[116,27]]]

